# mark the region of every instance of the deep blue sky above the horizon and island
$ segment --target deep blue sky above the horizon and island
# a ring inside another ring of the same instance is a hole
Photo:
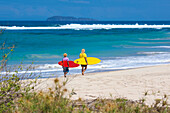
[[[103,21],[170,20],[170,0],[0,0],[0,20],[46,20],[51,16]]]

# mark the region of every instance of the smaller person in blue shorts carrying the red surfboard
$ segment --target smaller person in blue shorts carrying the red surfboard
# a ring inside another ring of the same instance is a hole
[[[66,74],[69,72],[69,58],[67,57],[67,53],[64,53],[64,58],[62,59],[63,63],[63,72],[64,72],[64,77],[66,77]]]

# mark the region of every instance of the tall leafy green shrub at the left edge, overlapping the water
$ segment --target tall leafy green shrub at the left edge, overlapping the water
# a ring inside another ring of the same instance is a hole
[[[7,112],[12,107],[15,107],[14,100],[22,97],[31,89],[34,89],[37,79],[26,82],[24,81],[25,79],[39,77],[32,73],[27,74],[27,71],[33,68],[31,65],[25,69],[26,71],[24,74],[18,73],[19,70],[23,70],[22,64],[15,69],[7,66],[9,55],[13,53],[14,47],[15,46],[6,47],[5,43],[3,43],[0,48],[2,55],[0,59],[0,113]],[[15,73],[11,74],[11,69],[15,71]]]

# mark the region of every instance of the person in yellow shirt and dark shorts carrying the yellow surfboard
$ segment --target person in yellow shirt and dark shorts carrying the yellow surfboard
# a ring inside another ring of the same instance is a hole
[[[87,65],[88,65],[87,55],[86,55],[86,53],[85,53],[85,49],[82,49],[82,50],[81,50],[81,53],[80,53],[80,56],[79,56],[79,57],[80,57],[80,58],[84,58],[85,61],[86,61],[86,63],[87,63]],[[87,69],[87,65],[81,65],[81,67],[82,67],[82,75],[84,75],[84,72],[85,72],[86,69]]]

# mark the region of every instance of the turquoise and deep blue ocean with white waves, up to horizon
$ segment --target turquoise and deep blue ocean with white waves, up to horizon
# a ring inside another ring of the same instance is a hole
[[[88,57],[101,59],[87,73],[170,62],[170,21],[0,21],[0,29],[0,45],[15,45],[8,66],[34,62],[28,73],[45,78],[63,76],[58,65],[63,53],[75,60],[83,48]],[[70,75],[78,73],[81,67],[70,68]]]

